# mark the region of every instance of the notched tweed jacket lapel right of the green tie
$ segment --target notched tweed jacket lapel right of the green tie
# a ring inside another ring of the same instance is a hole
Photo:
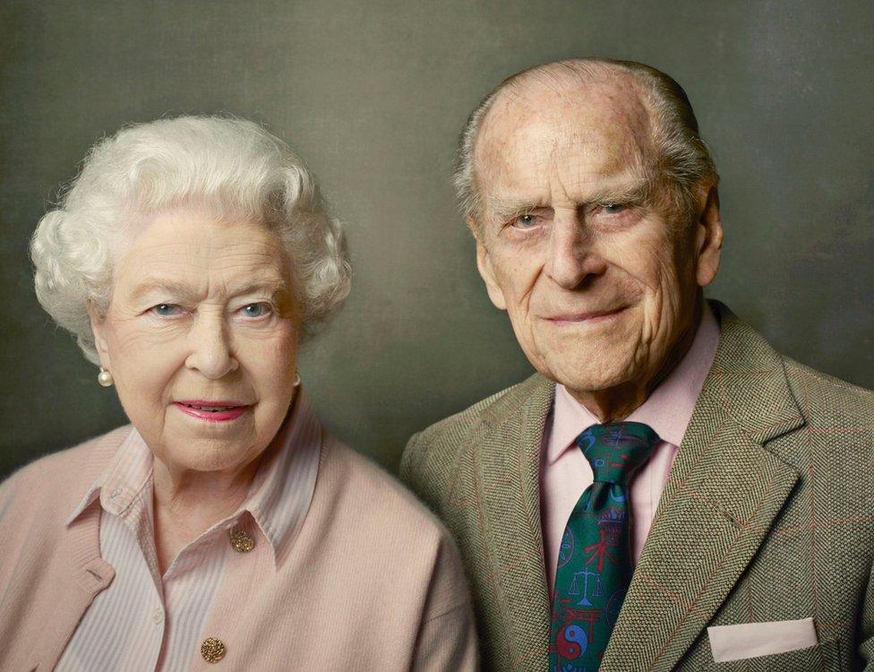
[[[669,670],[767,536],[798,472],[765,444],[803,425],[782,359],[727,308],[602,670]]]

